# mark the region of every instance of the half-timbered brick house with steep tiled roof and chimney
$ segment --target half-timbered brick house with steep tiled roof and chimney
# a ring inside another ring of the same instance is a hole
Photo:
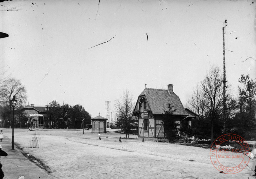
[[[168,110],[168,103],[173,106],[173,110],[176,109],[172,115],[180,126],[184,122],[191,125],[191,120],[196,115],[193,112],[188,113],[188,110],[184,109],[180,98],[173,91],[173,85],[168,85],[167,90],[147,88],[146,86],[139,95],[133,110],[133,116],[137,116],[139,119],[139,137],[165,138],[163,118],[164,110]],[[179,135],[178,130],[177,135]]]

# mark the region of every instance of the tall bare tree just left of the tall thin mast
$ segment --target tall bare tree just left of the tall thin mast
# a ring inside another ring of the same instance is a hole
[[[211,67],[204,80],[201,82],[205,98],[205,106],[211,120],[211,141],[213,142],[213,126],[217,115],[222,112],[223,104],[223,78],[219,67]]]

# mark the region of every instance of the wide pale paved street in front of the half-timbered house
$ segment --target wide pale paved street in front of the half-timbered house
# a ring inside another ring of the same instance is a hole
[[[11,130],[3,130],[4,135],[11,139]],[[99,140],[99,136],[102,140]],[[208,149],[141,142],[141,139],[137,140],[133,135],[130,135],[133,139],[121,139],[120,143],[119,136],[124,137],[114,131],[97,135],[85,130],[83,135],[82,130],[77,129],[15,129],[15,142],[25,153],[37,158],[37,163],[51,177],[255,178],[249,167],[234,175],[219,173],[211,164]],[[8,157],[3,161],[7,162]],[[252,164],[253,161],[249,165]],[[29,172],[36,173],[34,169]],[[7,176],[8,173],[5,173]]]

